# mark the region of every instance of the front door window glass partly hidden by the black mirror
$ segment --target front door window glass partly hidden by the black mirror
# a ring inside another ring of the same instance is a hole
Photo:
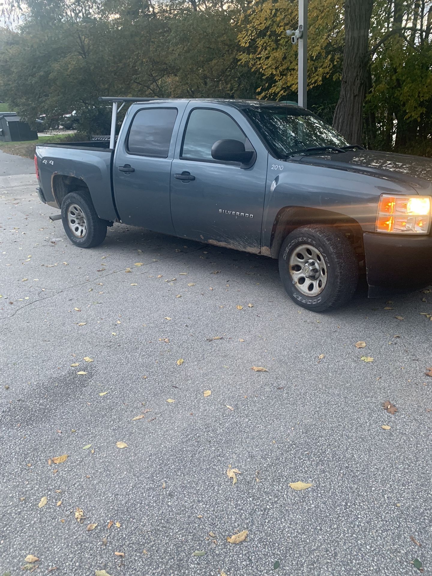
[[[181,158],[186,160],[211,160],[211,147],[218,140],[240,140],[246,137],[234,120],[218,110],[192,110],[184,134]]]

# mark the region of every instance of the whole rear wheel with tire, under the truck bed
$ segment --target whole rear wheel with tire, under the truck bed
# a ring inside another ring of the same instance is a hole
[[[107,221],[96,214],[89,195],[69,192],[62,202],[62,222],[66,236],[79,248],[93,248],[107,236]]]

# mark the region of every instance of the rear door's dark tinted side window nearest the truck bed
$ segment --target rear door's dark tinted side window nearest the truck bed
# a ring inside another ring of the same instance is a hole
[[[167,158],[176,108],[143,108],[132,120],[126,149],[129,154]]]

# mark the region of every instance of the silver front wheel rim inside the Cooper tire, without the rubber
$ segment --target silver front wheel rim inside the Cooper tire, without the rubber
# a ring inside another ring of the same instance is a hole
[[[291,281],[305,296],[321,294],[327,284],[327,266],[324,257],[311,244],[300,244],[290,256]]]

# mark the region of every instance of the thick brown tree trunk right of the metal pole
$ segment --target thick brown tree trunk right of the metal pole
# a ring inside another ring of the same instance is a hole
[[[351,144],[362,142],[363,102],[368,67],[367,48],[372,8],[373,0],[345,1],[342,85],[333,126]]]

